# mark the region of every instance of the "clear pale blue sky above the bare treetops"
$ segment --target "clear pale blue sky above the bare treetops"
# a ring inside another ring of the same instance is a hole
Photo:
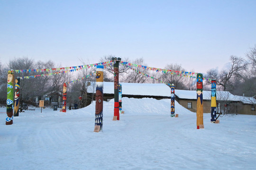
[[[256,44],[256,0],[0,0],[0,61],[63,67],[105,55],[187,71],[223,68]]]

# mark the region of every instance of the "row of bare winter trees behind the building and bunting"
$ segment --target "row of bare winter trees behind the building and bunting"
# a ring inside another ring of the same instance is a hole
[[[253,96],[256,94],[256,46],[251,48],[246,54],[246,59],[236,56],[230,56],[229,66],[222,70],[216,68],[210,69],[204,77],[214,78],[217,81],[218,90],[229,91],[236,95]],[[99,62],[110,61],[112,55],[104,56]],[[124,62],[130,62],[137,65],[147,66],[144,59],[139,58],[135,60],[122,59]],[[81,65],[86,63],[81,60]],[[42,69],[42,68],[60,68],[56,66],[51,60],[49,61],[35,61],[27,57],[18,59],[12,59],[9,61],[7,66],[3,66],[0,63],[0,103],[5,104],[6,101],[6,78],[7,71],[9,69]],[[184,90],[195,90],[196,81],[192,78],[183,76],[177,76],[172,74],[164,74],[162,72],[150,71],[144,68],[136,68],[139,72],[146,75],[155,77],[156,79],[165,81],[169,84],[174,84],[175,89]],[[168,64],[165,69],[189,71],[185,70],[180,64]],[[69,82],[74,79],[82,78],[81,81],[77,81],[72,84],[68,84],[67,103],[77,102],[81,107],[88,105],[92,101],[93,96],[87,95],[88,88],[91,88],[91,81],[95,81],[95,77],[91,76],[86,78],[85,76],[92,74],[95,68],[82,69],[76,73],[65,73],[65,74],[54,74],[53,76],[39,76],[37,78],[23,79],[20,81],[21,86],[21,102],[33,102],[37,97],[38,100],[42,99],[43,96],[48,94],[60,94],[64,82]],[[41,73],[15,73],[15,76],[31,76]],[[42,73],[43,74],[43,73]],[[114,81],[113,66],[104,69],[104,81]],[[127,83],[159,83],[155,79],[144,76],[127,66],[119,65],[119,82]],[[210,85],[205,86],[205,90],[210,89]],[[209,89],[207,89],[209,88]],[[93,90],[92,90],[93,91]],[[78,97],[82,96],[82,100],[78,100]],[[50,102],[51,102],[50,97]],[[59,101],[58,101],[59,102]]]

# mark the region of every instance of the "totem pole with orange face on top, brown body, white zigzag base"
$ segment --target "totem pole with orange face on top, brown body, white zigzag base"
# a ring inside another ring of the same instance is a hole
[[[103,66],[96,68],[95,126],[103,125]]]

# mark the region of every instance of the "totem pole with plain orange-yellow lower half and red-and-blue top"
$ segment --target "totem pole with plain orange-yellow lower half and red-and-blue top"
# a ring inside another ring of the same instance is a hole
[[[203,76],[201,73],[198,73],[196,76],[197,82],[196,82],[196,126],[197,129],[199,129],[200,125],[203,125],[203,97],[202,97],[202,80]]]

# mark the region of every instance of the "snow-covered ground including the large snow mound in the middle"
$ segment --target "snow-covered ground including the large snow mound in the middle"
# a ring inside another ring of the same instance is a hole
[[[37,108],[6,126],[0,108],[0,170],[256,170],[256,116],[236,115],[196,129],[196,114],[170,100],[104,102],[103,131],[93,133],[95,102],[66,113]]]

